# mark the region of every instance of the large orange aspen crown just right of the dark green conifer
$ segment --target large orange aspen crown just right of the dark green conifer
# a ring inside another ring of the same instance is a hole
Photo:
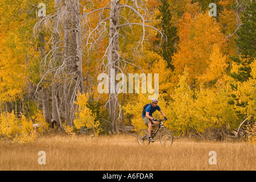
[[[209,57],[213,46],[225,48],[225,36],[220,24],[208,13],[185,13],[178,24],[180,43],[177,53],[173,56],[175,75],[183,73],[187,68],[189,85],[198,86],[197,77],[203,75],[209,65]],[[174,77],[174,81],[177,78]],[[196,85],[195,85],[196,84]]]

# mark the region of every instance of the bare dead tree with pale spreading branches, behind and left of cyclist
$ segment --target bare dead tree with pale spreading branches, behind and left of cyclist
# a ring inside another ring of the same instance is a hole
[[[152,25],[154,22],[152,19],[153,13],[147,9],[146,5],[141,0],[127,0],[123,4],[120,2],[120,0],[112,0],[109,3],[106,3],[104,7],[94,9],[83,15],[83,23],[87,25],[90,24],[90,17],[94,14],[98,14],[101,18],[95,28],[89,27],[86,31],[86,34],[83,37],[83,40],[85,41],[83,49],[85,49],[89,55],[96,50],[97,43],[100,42],[100,40],[109,40],[108,46],[104,51],[104,56],[98,60],[98,68],[100,68],[100,72],[107,73],[109,76],[109,85],[110,80],[115,79],[115,76],[119,72],[124,73],[126,71],[127,64],[140,68],[139,65],[135,64],[134,60],[127,59],[125,55],[121,54],[122,51],[119,47],[119,38],[124,38],[126,35],[119,32],[120,28],[128,27],[130,28],[130,31],[133,32],[134,26],[141,26],[141,39],[137,42],[136,46],[131,47],[131,49],[134,50],[134,53],[143,51],[143,43],[146,41],[146,34],[149,29],[158,31],[162,35],[162,32]],[[128,12],[127,17],[121,14],[123,11]],[[121,21],[123,23],[121,23]],[[111,69],[114,69],[115,75],[111,76]],[[109,110],[112,132],[114,130],[118,132],[117,126],[121,123],[122,112],[118,101],[118,93],[112,88],[110,88],[108,101],[106,102],[105,107]]]

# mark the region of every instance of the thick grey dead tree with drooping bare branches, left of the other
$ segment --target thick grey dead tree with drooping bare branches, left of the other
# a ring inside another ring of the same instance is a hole
[[[43,76],[37,86],[49,75],[52,79],[52,97],[56,104],[60,126],[75,119],[78,107],[77,93],[83,92],[81,17],[79,0],[56,0],[56,13],[40,19],[34,26],[34,36],[49,32],[47,46],[51,48],[41,61]],[[56,117],[56,112],[55,112]]]

